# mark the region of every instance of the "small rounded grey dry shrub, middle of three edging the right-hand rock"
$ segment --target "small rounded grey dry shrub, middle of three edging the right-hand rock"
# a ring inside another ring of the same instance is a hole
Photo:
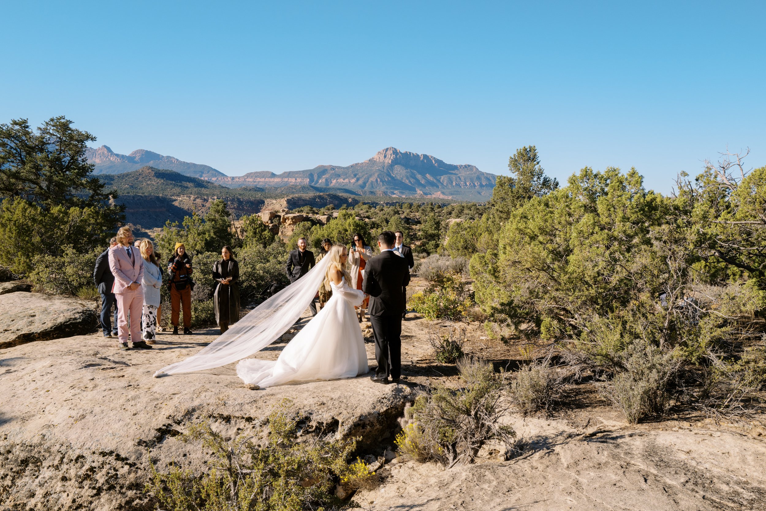
[[[561,398],[564,378],[551,366],[551,355],[523,365],[510,385],[514,405],[523,414],[548,413]]]

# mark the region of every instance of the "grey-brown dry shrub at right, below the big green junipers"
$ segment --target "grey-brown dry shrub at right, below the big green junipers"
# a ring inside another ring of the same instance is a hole
[[[617,375],[601,391],[623,411],[627,421],[637,424],[647,415],[663,414],[681,369],[676,353],[636,340],[613,360],[619,366]]]

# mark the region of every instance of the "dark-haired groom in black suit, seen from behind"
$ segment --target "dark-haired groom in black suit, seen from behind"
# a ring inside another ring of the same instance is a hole
[[[398,383],[401,377],[401,313],[404,296],[401,290],[410,283],[407,260],[395,253],[396,237],[391,231],[378,236],[380,255],[367,261],[362,290],[370,295],[370,323],[375,335],[375,360],[378,369],[373,382]]]

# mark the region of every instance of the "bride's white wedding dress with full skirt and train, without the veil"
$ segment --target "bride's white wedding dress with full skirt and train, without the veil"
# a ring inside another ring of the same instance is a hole
[[[242,381],[273,387],[288,382],[354,378],[368,372],[367,352],[354,306],[364,293],[352,289],[345,278],[330,283],[326,306],[287,343],[279,359],[244,359],[237,364]]]

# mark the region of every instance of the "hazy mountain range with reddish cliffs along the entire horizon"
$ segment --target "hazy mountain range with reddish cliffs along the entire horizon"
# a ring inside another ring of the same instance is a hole
[[[474,165],[453,165],[434,156],[394,147],[382,149],[372,158],[348,166],[318,165],[313,169],[281,174],[261,171],[240,176],[228,176],[208,165],[182,162],[144,149],[120,155],[101,146],[89,148],[87,158],[95,165],[96,174],[119,174],[151,166],[207,179],[228,188],[329,187],[362,195],[396,197],[421,195],[483,201],[492,195],[496,179],[496,175],[482,172]]]

